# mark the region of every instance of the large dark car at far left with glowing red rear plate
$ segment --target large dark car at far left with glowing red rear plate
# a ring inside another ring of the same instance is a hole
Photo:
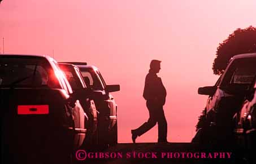
[[[49,56],[0,55],[1,158],[8,163],[66,163],[88,118]]]

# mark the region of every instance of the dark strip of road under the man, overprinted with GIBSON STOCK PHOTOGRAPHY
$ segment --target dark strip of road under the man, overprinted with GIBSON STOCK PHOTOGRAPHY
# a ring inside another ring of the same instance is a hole
[[[105,150],[79,150],[74,163],[247,163],[243,153],[192,143],[123,143]]]

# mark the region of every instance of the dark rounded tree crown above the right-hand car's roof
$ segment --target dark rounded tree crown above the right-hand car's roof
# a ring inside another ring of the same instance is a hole
[[[238,28],[219,44],[212,70],[214,74],[220,75],[224,72],[232,56],[253,52],[256,52],[256,28],[253,26],[245,29]]]

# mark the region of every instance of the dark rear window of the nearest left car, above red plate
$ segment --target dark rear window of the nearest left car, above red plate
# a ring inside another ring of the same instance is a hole
[[[60,88],[50,72],[50,64],[44,57],[1,57],[0,87]]]

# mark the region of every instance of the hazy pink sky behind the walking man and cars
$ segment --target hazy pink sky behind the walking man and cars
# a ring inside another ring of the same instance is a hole
[[[142,97],[151,59],[162,60],[167,88],[164,112],[168,140],[189,142],[214,85],[212,61],[218,44],[237,28],[256,26],[256,1],[32,1],[0,4],[0,48],[6,54],[46,54],[57,61],[96,65],[118,103],[119,142],[149,114]],[[157,126],[137,139],[157,141]]]

